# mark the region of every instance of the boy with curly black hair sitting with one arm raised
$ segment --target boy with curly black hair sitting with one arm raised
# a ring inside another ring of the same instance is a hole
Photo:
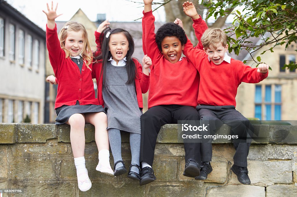
[[[181,58],[187,36],[184,30],[174,23],[162,25],[155,34],[152,0],[143,2],[143,52],[152,59],[153,65],[150,68],[149,109],[140,117],[140,185],[156,180],[152,164],[161,126],[177,123],[178,120],[199,120],[195,109],[199,73],[187,58]],[[207,29],[206,23],[198,14],[193,20],[201,23],[203,31]],[[200,144],[184,143],[184,149],[184,176],[196,177],[200,174]]]

